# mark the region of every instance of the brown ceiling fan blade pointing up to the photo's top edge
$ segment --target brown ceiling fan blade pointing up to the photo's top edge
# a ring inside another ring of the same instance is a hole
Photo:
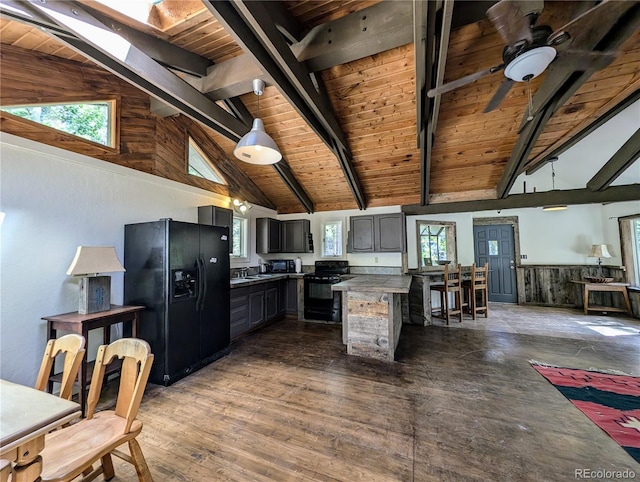
[[[539,0],[501,0],[487,10],[487,17],[502,36],[505,43],[514,45],[522,40],[533,41],[527,14],[542,11],[544,2]]]

